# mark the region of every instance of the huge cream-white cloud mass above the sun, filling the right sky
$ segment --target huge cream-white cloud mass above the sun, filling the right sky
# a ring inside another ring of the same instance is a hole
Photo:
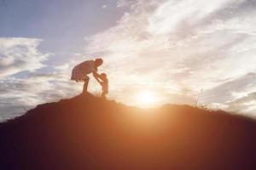
[[[190,102],[204,89],[203,102],[226,105],[242,91],[236,81],[256,85],[247,80],[256,71],[253,1],[119,1],[125,5],[116,26],[86,37],[86,54],[105,56],[114,89],[152,88]]]

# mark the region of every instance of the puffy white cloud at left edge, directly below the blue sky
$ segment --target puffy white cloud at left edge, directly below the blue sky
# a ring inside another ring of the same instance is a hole
[[[41,41],[33,38],[0,37],[0,77],[44,67],[43,62],[49,54],[38,51]]]

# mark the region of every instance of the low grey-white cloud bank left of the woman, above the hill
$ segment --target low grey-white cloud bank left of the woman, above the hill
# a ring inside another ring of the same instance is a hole
[[[0,80],[0,113],[9,118],[24,113],[24,108],[58,99],[68,98],[81,91],[77,83],[69,81],[69,75],[34,72],[26,78],[8,77]]]

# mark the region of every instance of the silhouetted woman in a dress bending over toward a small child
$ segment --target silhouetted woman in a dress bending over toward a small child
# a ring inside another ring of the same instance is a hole
[[[83,94],[87,93],[90,77],[87,75],[93,73],[94,77],[99,77],[98,67],[103,64],[103,59],[87,60],[73,68],[71,80],[76,82],[84,81]]]

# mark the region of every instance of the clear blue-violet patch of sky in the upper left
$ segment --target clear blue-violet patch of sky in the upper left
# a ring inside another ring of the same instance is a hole
[[[104,5],[108,8],[102,10]],[[68,58],[63,52],[83,50],[84,37],[113,26],[124,10],[116,8],[116,2],[111,0],[5,0],[0,10],[0,36],[43,39],[38,48],[46,53],[61,53],[55,59],[62,61]]]

